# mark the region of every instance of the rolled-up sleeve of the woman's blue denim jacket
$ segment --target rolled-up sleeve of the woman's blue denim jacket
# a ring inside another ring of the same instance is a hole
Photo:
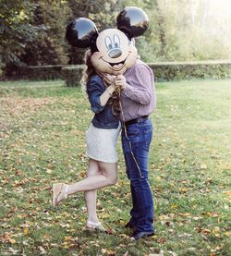
[[[100,113],[103,111],[104,106],[101,105],[100,96],[103,94],[103,87],[99,84],[97,79],[91,79],[88,82],[88,97],[91,104],[91,110],[94,113]]]

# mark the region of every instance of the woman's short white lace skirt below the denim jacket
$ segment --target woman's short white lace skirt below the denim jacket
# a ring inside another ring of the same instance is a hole
[[[121,129],[96,128],[92,124],[86,132],[87,155],[103,163],[117,163],[116,141]]]

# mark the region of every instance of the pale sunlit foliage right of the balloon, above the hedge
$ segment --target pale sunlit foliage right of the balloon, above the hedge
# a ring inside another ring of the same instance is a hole
[[[225,5],[216,7],[208,0],[124,2],[144,8],[150,18],[150,29],[138,39],[145,61],[231,58],[231,16],[224,15]]]

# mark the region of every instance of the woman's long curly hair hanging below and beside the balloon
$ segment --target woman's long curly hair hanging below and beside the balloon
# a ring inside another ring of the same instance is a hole
[[[84,86],[85,91],[88,88],[88,82],[91,79],[91,76],[97,74],[96,70],[91,64],[91,50],[88,50],[84,56],[84,62],[86,64],[86,68],[83,71],[82,78],[81,78],[81,85]],[[105,86],[109,86],[110,84],[106,84]],[[118,117],[120,115],[121,109],[119,104],[119,95],[116,91],[113,92],[111,98],[108,100],[108,104],[112,106],[112,111],[114,116]]]

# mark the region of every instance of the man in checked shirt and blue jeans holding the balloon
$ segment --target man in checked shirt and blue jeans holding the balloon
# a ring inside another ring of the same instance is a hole
[[[134,229],[132,239],[154,234],[152,190],[148,179],[149,149],[156,97],[152,69],[139,59],[115,80],[122,89],[122,147],[130,180],[132,209],[126,227]]]

